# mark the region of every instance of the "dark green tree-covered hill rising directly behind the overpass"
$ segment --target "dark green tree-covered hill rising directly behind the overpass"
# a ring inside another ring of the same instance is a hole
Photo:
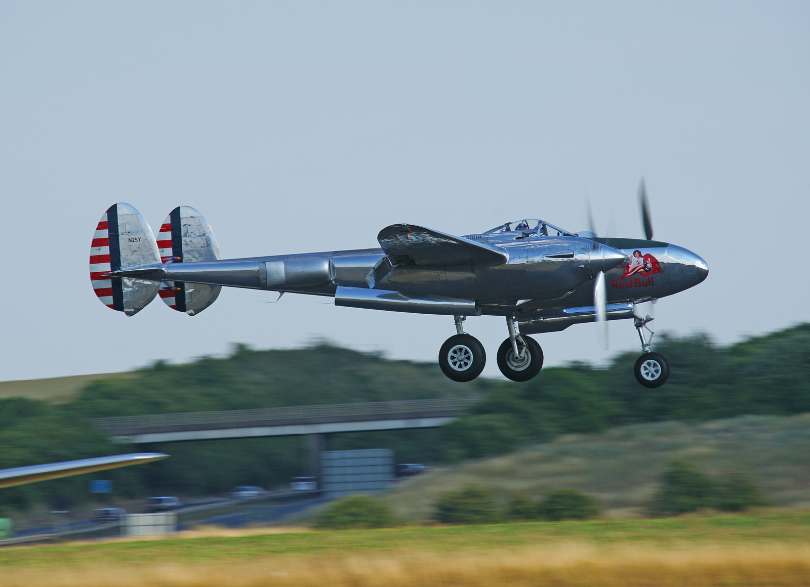
[[[322,344],[292,351],[237,345],[225,359],[158,362],[131,379],[92,381],[72,406],[87,417],[239,410],[275,406],[453,398],[487,393],[494,382],[450,381],[436,365]]]

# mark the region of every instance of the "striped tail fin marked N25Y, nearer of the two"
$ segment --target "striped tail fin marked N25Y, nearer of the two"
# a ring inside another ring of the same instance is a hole
[[[101,303],[132,316],[155,299],[159,283],[104,277],[105,273],[160,262],[151,228],[134,206],[110,206],[96,225],[90,245],[90,283]]]

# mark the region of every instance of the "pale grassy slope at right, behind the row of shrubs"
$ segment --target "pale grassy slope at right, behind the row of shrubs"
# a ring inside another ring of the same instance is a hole
[[[635,424],[439,467],[385,499],[399,515],[425,521],[442,492],[467,485],[492,487],[504,501],[572,487],[594,496],[608,517],[632,517],[645,512],[662,470],[677,458],[711,475],[744,472],[774,506],[810,508],[808,446],[810,414]]]

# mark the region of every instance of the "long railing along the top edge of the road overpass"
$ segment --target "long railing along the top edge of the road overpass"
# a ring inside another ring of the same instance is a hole
[[[416,399],[396,402],[343,403],[322,406],[288,406],[259,408],[256,410],[225,410],[210,412],[183,412],[179,414],[154,414],[96,418],[93,423],[103,432],[115,436],[123,432],[174,426],[205,426],[211,424],[254,423],[258,421],[322,419],[339,422],[342,419],[357,419],[359,416],[402,417],[411,413],[437,412],[446,415],[460,414],[480,398]]]

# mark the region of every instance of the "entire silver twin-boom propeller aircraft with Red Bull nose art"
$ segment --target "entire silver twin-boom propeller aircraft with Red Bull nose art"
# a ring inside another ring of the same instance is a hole
[[[198,211],[178,206],[157,239],[139,211],[113,204],[101,217],[90,252],[90,279],[103,304],[132,316],[156,295],[190,316],[220,288],[248,287],[335,298],[336,306],[454,317],[456,334],[439,351],[439,366],[454,381],[472,381],[486,353],[463,330],[470,316],[505,317],[509,338],[497,351],[501,372],[528,381],[543,367],[543,351],[527,334],[572,324],[632,319],[643,354],[635,376],[646,387],[667,381],[667,359],[650,351],[649,316],[636,304],[701,283],[706,262],[676,245],[652,240],[643,181],[646,239],[599,238],[539,219],[499,224],[453,236],[416,224],[392,224],[379,248],[220,259],[211,227]]]

